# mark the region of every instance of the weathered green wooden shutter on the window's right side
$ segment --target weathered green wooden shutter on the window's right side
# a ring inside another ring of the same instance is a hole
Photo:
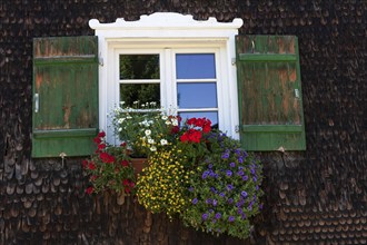
[[[242,147],[305,150],[297,37],[236,39]]]

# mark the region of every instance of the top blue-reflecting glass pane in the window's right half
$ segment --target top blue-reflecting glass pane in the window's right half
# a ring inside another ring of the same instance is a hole
[[[177,53],[177,79],[216,78],[214,53]]]

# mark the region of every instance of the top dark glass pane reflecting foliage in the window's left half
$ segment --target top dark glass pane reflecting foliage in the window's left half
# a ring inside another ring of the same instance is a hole
[[[159,55],[120,55],[120,79],[159,79]]]

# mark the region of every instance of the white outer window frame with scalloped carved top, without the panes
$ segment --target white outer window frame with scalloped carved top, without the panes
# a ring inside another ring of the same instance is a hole
[[[198,51],[201,51],[200,48],[217,50],[216,66],[220,67],[217,71],[219,129],[234,138],[239,138],[239,133],[236,131],[239,119],[235,36],[238,33],[238,28],[242,26],[241,19],[235,19],[232,22],[218,22],[215,18],[197,21],[192,16],[157,12],[141,16],[137,21],[117,19],[112,23],[100,23],[92,19],[89,26],[98,36],[99,126],[101,130],[107,131],[109,143],[115,143],[113,129],[109,127],[110,119],[107,115],[116,106],[116,99],[118,99],[119,90],[116,88],[119,82],[116,81],[119,78],[116,76],[119,71],[116,70],[118,69],[116,63],[119,50],[131,50],[133,53],[139,49],[165,50],[167,47]],[[167,89],[165,82],[161,82],[161,91],[165,89]],[[175,91],[166,92],[176,96]],[[175,98],[169,99],[175,100]],[[167,101],[162,101],[162,105],[167,105]]]

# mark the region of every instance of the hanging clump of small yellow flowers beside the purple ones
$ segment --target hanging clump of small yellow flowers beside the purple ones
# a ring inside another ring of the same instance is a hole
[[[185,156],[175,146],[152,154],[148,159],[149,166],[138,178],[139,203],[150,212],[162,212],[170,218],[181,213],[188,205],[185,193],[189,171],[185,163]]]

